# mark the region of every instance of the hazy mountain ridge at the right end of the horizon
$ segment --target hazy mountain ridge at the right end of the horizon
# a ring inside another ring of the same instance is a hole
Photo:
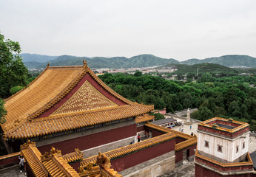
[[[181,64],[195,65],[198,63],[216,63],[223,66],[246,66],[256,67],[256,58],[252,58],[248,55],[224,55],[215,58],[206,58],[203,60],[190,59],[182,61]]]

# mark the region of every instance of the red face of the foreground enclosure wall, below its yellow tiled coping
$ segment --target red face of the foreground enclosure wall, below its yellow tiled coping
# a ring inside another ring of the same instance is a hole
[[[112,168],[118,172],[125,170],[129,167],[133,167],[142,162],[146,162],[157,156],[161,156],[164,153],[169,153],[175,149],[175,139],[171,139],[168,142],[163,142],[158,145],[147,147],[144,150],[140,150],[136,153],[130,153],[127,156],[122,156],[118,159],[111,161]]]

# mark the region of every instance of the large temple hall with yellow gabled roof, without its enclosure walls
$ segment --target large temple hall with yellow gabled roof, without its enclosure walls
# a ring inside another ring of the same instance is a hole
[[[65,147],[64,153],[121,147],[137,137],[136,117],[153,105],[121,97],[87,66],[47,66],[27,88],[5,100],[6,122],[1,133],[8,153],[19,151],[27,139],[38,150]],[[90,143],[89,143],[90,142]],[[112,146],[112,142],[118,146]],[[95,153],[94,151],[92,154]]]

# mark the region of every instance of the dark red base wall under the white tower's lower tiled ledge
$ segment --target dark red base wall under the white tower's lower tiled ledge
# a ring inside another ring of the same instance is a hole
[[[198,164],[195,164],[195,176],[196,177],[223,177],[218,173],[215,173],[212,170],[208,170],[204,167],[201,167]],[[253,174],[243,174],[243,175],[230,175],[226,177],[253,177]]]

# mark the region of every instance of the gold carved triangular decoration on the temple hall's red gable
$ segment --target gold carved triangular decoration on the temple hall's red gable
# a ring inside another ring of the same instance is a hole
[[[118,106],[86,80],[78,91],[52,115]]]

